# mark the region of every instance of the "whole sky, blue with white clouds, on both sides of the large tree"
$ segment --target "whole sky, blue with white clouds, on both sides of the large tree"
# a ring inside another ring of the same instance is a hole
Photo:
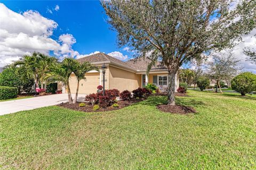
[[[99,1],[0,1],[0,67],[33,51],[59,59],[104,52],[128,60],[129,48],[117,47],[106,18]],[[255,34],[244,36],[233,54],[245,71],[256,73],[243,54],[244,47],[255,47]]]

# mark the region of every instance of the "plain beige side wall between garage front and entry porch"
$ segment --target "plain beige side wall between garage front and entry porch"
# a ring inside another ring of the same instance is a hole
[[[140,82],[141,75],[116,67],[109,67],[109,89],[116,88],[120,92],[124,90],[133,91],[140,86]]]

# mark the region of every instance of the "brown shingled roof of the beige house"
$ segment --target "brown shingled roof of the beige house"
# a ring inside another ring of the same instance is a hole
[[[112,63],[112,64],[117,64],[118,66],[123,66],[125,68],[131,69],[133,71],[146,71],[147,66],[150,63],[149,59],[137,59],[137,60],[132,59],[132,60],[123,62],[105,53],[92,54],[92,55],[77,59],[77,61],[79,62],[88,61],[93,64],[104,63],[104,62]],[[151,68],[151,70],[162,70],[162,69],[166,70],[166,67],[160,66],[159,62],[156,64],[156,66],[153,66],[153,68]]]

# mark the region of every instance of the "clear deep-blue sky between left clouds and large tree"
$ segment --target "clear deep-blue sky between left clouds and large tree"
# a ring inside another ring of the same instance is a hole
[[[116,32],[110,30],[99,1],[0,1],[9,10],[22,14],[28,10],[38,11],[42,17],[58,23],[49,36],[58,42],[62,34],[70,34],[76,39],[72,49],[79,54],[95,51],[121,52],[127,59],[131,54],[118,48]],[[55,7],[58,6],[57,9]],[[50,52],[50,54],[53,54]],[[117,57],[118,58],[118,57]],[[126,59],[126,60],[127,60]]]

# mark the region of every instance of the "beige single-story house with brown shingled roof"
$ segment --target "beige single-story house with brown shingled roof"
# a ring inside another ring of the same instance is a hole
[[[168,78],[167,69],[161,66],[153,67],[149,76],[146,76],[146,69],[149,60],[139,59],[123,62],[105,53],[97,53],[84,58],[77,59],[79,62],[88,61],[101,68],[105,63],[107,66],[105,74],[105,89],[116,88],[120,92],[124,90],[133,91],[138,87],[143,87],[148,83],[155,84],[161,91],[167,90]],[[175,77],[175,89],[179,86],[178,77]],[[90,71],[85,74],[85,79],[80,81],[79,94],[90,94],[97,92],[97,86],[103,84],[102,72]],[[74,74],[70,77],[71,93],[76,92],[77,80]],[[64,88],[65,89],[65,88]]]

